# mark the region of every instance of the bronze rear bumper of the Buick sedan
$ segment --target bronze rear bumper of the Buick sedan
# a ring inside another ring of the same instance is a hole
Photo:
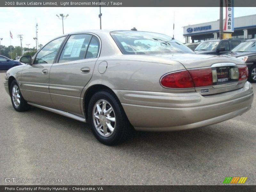
[[[136,130],[175,131],[216,124],[251,108],[252,85],[213,95],[114,90]]]

